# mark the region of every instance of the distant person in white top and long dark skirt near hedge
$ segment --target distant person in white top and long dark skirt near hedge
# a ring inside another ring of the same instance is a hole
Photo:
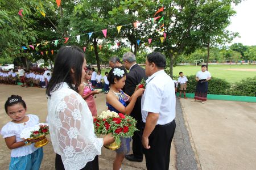
[[[196,73],[196,92],[195,92],[195,100],[201,100],[204,104],[207,101],[207,92],[208,92],[208,81],[212,78],[210,76],[210,72],[207,71],[206,65],[201,66],[201,71]]]

